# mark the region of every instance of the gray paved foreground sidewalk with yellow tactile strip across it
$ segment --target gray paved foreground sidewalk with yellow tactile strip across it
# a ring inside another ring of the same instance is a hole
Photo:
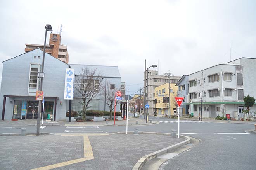
[[[142,156],[184,141],[156,134],[91,135],[1,136],[1,169],[131,170]]]

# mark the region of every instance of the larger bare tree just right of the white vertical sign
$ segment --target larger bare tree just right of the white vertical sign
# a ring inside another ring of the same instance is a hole
[[[102,75],[97,73],[97,69],[88,67],[82,68],[81,71],[76,74],[74,87],[76,90],[75,95],[81,99],[81,104],[83,105],[82,119],[85,120],[89,103],[102,89]]]

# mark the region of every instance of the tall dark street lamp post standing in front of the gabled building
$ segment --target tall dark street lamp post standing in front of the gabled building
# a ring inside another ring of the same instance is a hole
[[[41,73],[43,73],[43,66],[45,63],[45,44],[46,44],[46,36],[47,36],[47,31],[52,31],[52,26],[51,25],[46,25],[45,26],[45,43],[43,45],[43,59],[42,59],[42,69]],[[44,73],[43,73],[44,77]],[[43,77],[40,77],[40,85],[39,85],[39,91],[42,91],[43,89]],[[39,129],[40,129],[40,119],[41,119],[41,109],[42,109],[42,102],[38,102],[38,115],[37,115],[37,124],[36,124],[36,136],[39,135]]]

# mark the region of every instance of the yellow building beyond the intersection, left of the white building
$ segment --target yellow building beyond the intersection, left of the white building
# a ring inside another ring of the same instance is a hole
[[[156,108],[158,115],[168,116],[169,103],[167,97],[170,97],[171,102],[169,116],[176,113],[176,108],[178,107],[178,105],[176,104],[175,97],[177,96],[178,86],[170,83],[170,96],[168,88],[169,83],[165,83],[161,86],[155,87],[155,99],[157,99],[157,103],[154,104],[154,107]],[[165,98],[166,100],[164,100],[163,98]]]

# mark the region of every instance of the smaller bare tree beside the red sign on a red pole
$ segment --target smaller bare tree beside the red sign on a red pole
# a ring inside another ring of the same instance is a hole
[[[107,82],[106,87],[106,104],[109,106],[109,117],[110,120],[112,120],[112,111],[115,107],[115,96],[116,92],[120,90],[119,88],[116,88],[115,85],[111,85],[109,82]],[[116,104],[118,104],[118,101],[116,101]]]

